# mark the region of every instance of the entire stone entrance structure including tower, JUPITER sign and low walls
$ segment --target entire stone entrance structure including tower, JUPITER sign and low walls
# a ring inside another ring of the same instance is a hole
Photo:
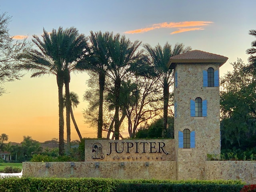
[[[227,59],[200,50],[170,58],[168,67],[175,73],[174,140],[86,140],[85,162],[24,162],[23,176],[255,183],[256,162],[206,160],[207,154],[220,154],[219,68]],[[208,76],[208,70],[214,75]],[[201,101],[196,108],[197,98]]]

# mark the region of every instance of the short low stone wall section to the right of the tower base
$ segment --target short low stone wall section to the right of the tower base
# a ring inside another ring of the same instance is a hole
[[[256,184],[255,161],[206,161],[206,180],[242,180],[247,184]]]

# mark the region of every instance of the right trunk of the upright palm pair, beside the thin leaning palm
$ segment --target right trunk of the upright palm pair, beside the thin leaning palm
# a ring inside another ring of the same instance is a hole
[[[67,152],[70,152],[71,142],[71,128],[70,128],[70,95],[69,95],[70,78],[65,80],[65,94],[66,94],[66,126],[67,126]]]

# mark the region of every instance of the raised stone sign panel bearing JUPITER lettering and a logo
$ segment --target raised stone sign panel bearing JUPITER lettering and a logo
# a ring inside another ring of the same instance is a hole
[[[85,140],[85,162],[152,161],[176,161],[174,140]]]

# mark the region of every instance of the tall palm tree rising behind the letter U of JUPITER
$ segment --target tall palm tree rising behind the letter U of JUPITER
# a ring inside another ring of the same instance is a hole
[[[114,38],[110,39],[108,42],[110,60],[107,76],[114,85],[114,137],[116,140],[119,139],[120,128],[119,110],[121,82],[130,78],[131,73],[128,72],[130,65],[140,59],[142,50],[138,51],[138,47],[141,43],[142,42],[138,40],[132,43],[129,39],[126,39],[124,35],[120,37],[120,34],[116,34]]]

